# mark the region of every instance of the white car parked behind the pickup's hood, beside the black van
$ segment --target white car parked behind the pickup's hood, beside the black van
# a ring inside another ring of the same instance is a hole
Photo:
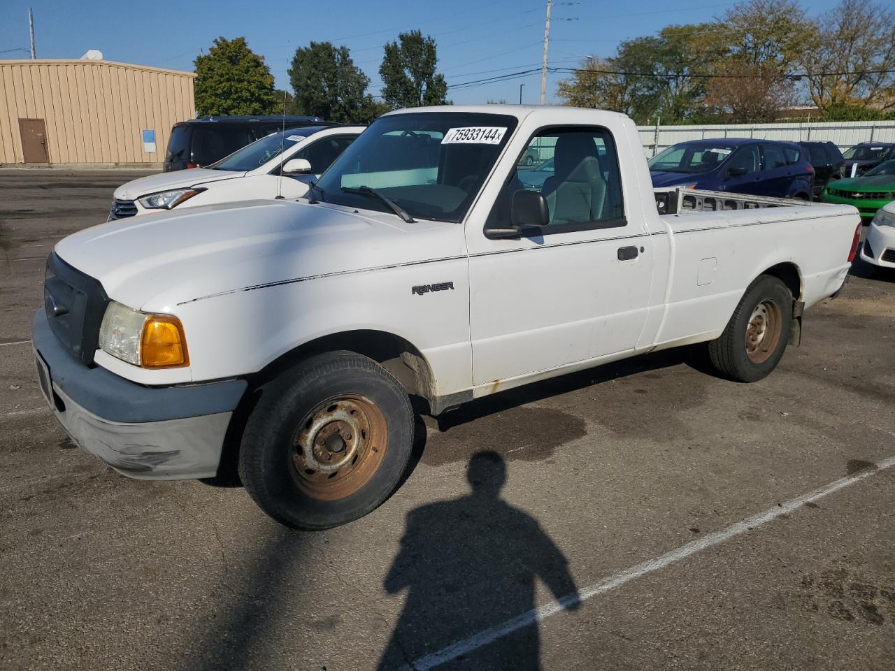
[[[256,140],[207,167],[132,180],[115,189],[108,221],[237,200],[295,200],[307,193],[308,183],[323,173],[363,129],[328,125],[287,129]]]

